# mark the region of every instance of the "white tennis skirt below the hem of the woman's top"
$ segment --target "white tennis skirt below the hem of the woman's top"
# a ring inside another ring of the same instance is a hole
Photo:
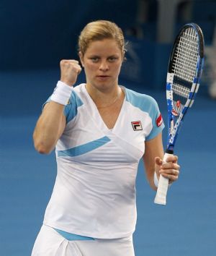
[[[121,239],[68,241],[55,229],[43,225],[32,256],[135,256],[132,236]]]

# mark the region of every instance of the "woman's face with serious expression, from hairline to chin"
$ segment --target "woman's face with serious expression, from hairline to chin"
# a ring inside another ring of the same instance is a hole
[[[81,63],[86,73],[86,85],[98,90],[109,90],[118,84],[123,54],[114,39],[89,43]]]

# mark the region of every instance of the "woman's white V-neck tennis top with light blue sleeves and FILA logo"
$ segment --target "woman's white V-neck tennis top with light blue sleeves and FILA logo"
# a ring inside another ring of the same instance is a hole
[[[163,129],[156,101],[125,90],[112,130],[104,124],[85,84],[65,107],[66,129],[55,148],[58,165],[44,223],[100,239],[129,236],[137,218],[135,179],[145,140]]]

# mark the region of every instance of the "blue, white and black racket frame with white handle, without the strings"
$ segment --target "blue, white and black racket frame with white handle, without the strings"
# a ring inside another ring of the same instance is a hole
[[[184,104],[184,108],[181,110],[178,118],[174,115],[174,100],[173,100],[173,84],[174,84],[174,73],[172,72],[172,64],[174,61],[174,54],[177,44],[179,43],[179,38],[181,37],[184,30],[192,27],[194,31],[197,33],[197,44],[198,44],[198,56],[197,56],[197,67],[196,73],[194,75],[193,84],[189,92],[189,97],[186,99],[186,103]],[[171,51],[171,55],[168,62],[168,73],[166,77],[166,101],[168,108],[168,138],[167,138],[167,147],[166,153],[163,157],[163,163],[166,163],[166,159],[168,155],[174,154],[174,146],[176,143],[177,136],[179,134],[179,130],[181,129],[181,125],[184,121],[184,116],[186,112],[194,103],[194,98],[197,95],[197,91],[199,90],[199,82],[202,75],[202,69],[204,66],[204,37],[202,34],[201,28],[195,23],[188,23],[181,27],[179,34],[176,36],[176,40],[174,42],[174,46]],[[176,121],[176,122],[174,122]],[[158,189],[156,193],[156,197],[154,202],[160,205],[166,205],[166,194],[168,190],[168,179],[160,175],[158,182]]]

